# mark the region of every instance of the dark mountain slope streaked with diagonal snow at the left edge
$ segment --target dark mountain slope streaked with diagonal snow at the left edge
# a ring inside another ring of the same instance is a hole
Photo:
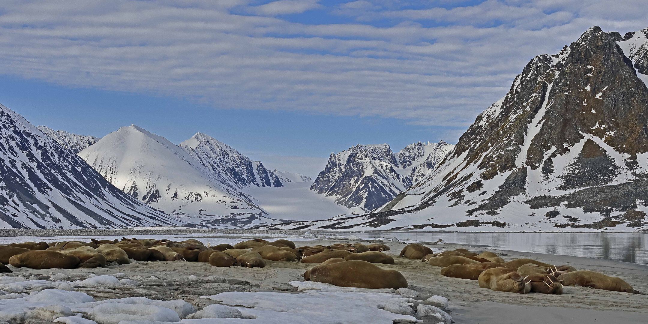
[[[67,147],[0,105],[0,227],[179,225],[124,194]]]

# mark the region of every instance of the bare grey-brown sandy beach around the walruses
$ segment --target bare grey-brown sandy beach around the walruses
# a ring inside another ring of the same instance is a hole
[[[284,235],[288,237],[287,233]],[[268,240],[275,238],[273,235],[268,236]],[[15,239],[16,242],[21,241],[20,237]],[[334,242],[367,242],[349,238],[302,239],[299,240],[298,246],[329,245]],[[395,259],[395,264],[378,264],[378,266],[401,272],[410,284],[409,288],[421,295],[447,297],[450,300],[448,311],[455,323],[642,323],[648,316],[646,295],[573,286],[564,287],[562,295],[495,292],[479,288],[477,281],[444,277],[439,274],[441,268],[430,266],[427,262],[399,258],[400,250],[406,245],[403,242],[386,240],[375,240],[375,242],[387,244],[391,250],[386,253]],[[505,260],[529,258],[549,264],[569,264],[579,270],[592,270],[621,277],[636,290],[648,292],[648,266],[640,264],[566,255],[500,251],[463,244],[431,244],[430,242],[422,242],[422,244],[432,248],[435,253],[466,248],[477,252],[493,251]],[[73,270],[32,270],[10,266],[14,273],[4,275],[47,280],[52,275],[60,273],[57,278],[74,281],[86,279],[91,273],[95,275],[123,273],[121,277],[139,281],[140,286],[124,286],[119,289],[77,288],[77,291],[91,295],[96,300],[121,297],[183,299],[191,303],[196,310],[200,310],[216,303],[210,299],[201,299],[203,295],[231,291],[295,292],[297,289],[288,283],[303,281],[303,273],[316,265],[273,261],[267,263],[265,268],[218,268],[202,262],[181,261],[132,262],[107,268]]]

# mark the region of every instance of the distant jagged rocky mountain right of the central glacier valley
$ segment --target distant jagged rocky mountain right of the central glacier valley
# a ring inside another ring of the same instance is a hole
[[[428,174],[454,145],[444,141],[406,146],[393,153],[388,144],[356,145],[329,161],[311,190],[347,207],[373,211]]]

